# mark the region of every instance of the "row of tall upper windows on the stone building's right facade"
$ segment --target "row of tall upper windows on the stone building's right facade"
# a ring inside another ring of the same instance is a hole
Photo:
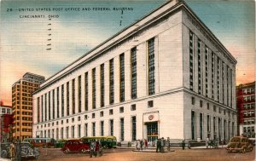
[[[205,95],[209,97],[209,85],[211,87],[212,100],[223,103],[227,106],[232,106],[232,69],[230,66],[225,65],[223,60],[220,60],[218,55],[213,51],[211,56],[209,53],[209,48],[205,45],[204,53],[202,52],[202,42],[200,39],[197,40],[197,70],[195,70],[195,34],[189,32],[189,89],[195,91],[195,72],[197,72],[197,82],[198,82],[198,94]],[[204,74],[205,74],[205,84],[202,83],[202,57],[204,54]],[[212,63],[209,64],[209,58],[211,58]],[[209,83],[209,67],[211,66],[211,83]],[[225,78],[225,79],[224,79]],[[220,90],[220,88],[222,90]],[[226,89],[226,91],[224,91]],[[205,94],[203,93],[205,91]],[[220,99],[222,98],[222,99]],[[226,98],[226,101],[225,99]]]

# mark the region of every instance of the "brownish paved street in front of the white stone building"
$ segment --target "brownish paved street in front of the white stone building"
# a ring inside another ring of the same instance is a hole
[[[154,149],[143,152],[132,152],[133,149],[105,149],[102,157],[90,158],[89,154],[68,153],[64,154],[59,148],[40,148],[39,161],[43,160],[104,160],[104,161],[253,161],[253,152],[228,153],[224,148],[219,149],[172,149],[172,152],[154,152]],[[32,159],[30,159],[32,160]]]

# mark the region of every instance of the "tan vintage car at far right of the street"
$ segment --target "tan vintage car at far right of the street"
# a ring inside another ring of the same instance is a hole
[[[247,137],[234,136],[230,140],[230,143],[226,149],[228,152],[252,152],[253,145],[250,143]]]

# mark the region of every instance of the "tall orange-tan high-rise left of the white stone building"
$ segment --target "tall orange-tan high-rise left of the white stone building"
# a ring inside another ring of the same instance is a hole
[[[13,137],[15,139],[23,140],[32,137],[32,92],[43,82],[43,76],[26,72],[12,86]]]

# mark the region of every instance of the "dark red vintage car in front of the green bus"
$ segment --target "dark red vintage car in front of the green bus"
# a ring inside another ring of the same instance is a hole
[[[64,147],[61,148],[61,151],[64,153],[68,152],[89,152],[90,145],[85,143],[80,139],[77,140],[68,140],[66,141]]]

